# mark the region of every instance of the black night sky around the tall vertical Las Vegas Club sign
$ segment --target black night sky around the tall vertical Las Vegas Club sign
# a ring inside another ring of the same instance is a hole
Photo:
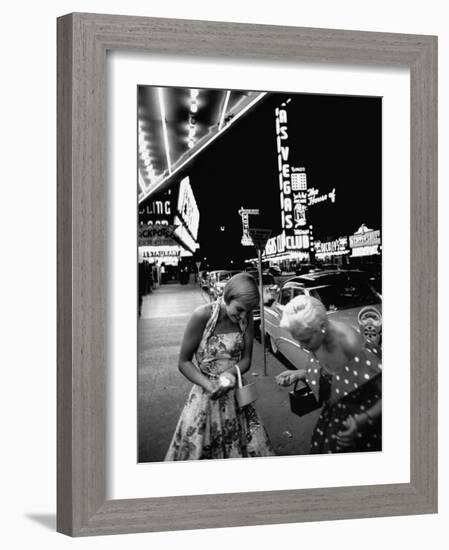
[[[381,99],[270,93],[181,176],[189,175],[200,210],[199,256],[214,267],[255,255],[240,244],[241,206],[260,209],[252,225],[280,233],[274,110],[287,98],[290,164],[305,167],[320,195],[336,188],[336,203],[308,209],[315,239],[350,235],[362,223],[381,228]]]

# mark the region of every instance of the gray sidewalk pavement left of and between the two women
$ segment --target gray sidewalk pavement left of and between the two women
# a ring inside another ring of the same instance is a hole
[[[177,367],[182,335],[190,313],[209,301],[198,285],[161,285],[143,298],[138,330],[139,462],[164,459],[191,388]],[[262,346],[254,343],[247,379],[257,383],[256,408],[277,455],[307,454],[319,412],[299,418],[290,412],[288,389],[274,377],[286,366],[267,351],[264,376]]]

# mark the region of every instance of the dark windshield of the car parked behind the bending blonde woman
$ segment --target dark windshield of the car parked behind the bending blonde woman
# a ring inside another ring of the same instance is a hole
[[[364,283],[323,286],[311,289],[310,294],[321,300],[326,309],[331,311],[379,303],[372,288]]]

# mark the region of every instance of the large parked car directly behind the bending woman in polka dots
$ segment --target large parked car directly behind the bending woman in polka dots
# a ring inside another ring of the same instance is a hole
[[[366,274],[357,270],[318,271],[292,277],[286,281],[274,303],[265,306],[266,340],[274,354],[280,353],[296,368],[303,368],[308,351],[302,349],[291,334],[279,326],[285,306],[299,295],[313,296],[323,302],[329,318],[343,321],[360,332],[359,313],[365,306],[377,310],[381,331],[382,299]],[[373,316],[374,319],[374,316]],[[365,333],[366,336],[367,333]]]

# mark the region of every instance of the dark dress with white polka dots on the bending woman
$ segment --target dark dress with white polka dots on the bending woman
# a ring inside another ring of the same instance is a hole
[[[382,450],[381,417],[369,420],[358,432],[351,447],[340,447],[337,432],[346,430],[349,415],[361,414],[371,408],[382,392],[381,350],[365,348],[340,371],[329,373],[311,357],[307,365],[306,382],[325,405],[312,435],[310,452],[345,453]]]

